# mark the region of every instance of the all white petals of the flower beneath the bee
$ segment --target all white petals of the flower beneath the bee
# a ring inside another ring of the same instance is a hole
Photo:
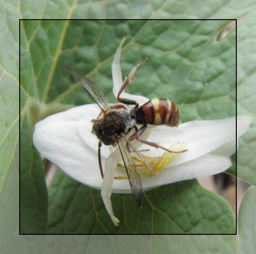
[[[38,122],[33,134],[33,142],[44,157],[60,167],[70,177],[97,189],[101,189],[102,179],[98,166],[98,140],[91,133],[91,119],[95,119],[99,112],[100,110],[96,104],[75,107]],[[165,142],[167,143],[166,147],[169,147],[168,143],[172,144],[183,141],[188,147],[194,148],[191,150],[191,153],[196,151],[196,157],[199,157],[202,150],[204,153],[210,152],[214,153],[214,155],[205,154],[200,158],[194,158],[188,162],[183,158],[187,156],[187,153],[177,155],[158,174],[158,179],[156,177],[142,176],[143,189],[147,190],[163,184],[193,179],[226,170],[231,165],[230,159],[227,157],[235,152],[235,140],[233,136],[234,121],[234,118],[217,121],[195,121],[182,124],[177,129],[164,126],[160,127],[165,131],[165,135],[168,134],[168,137],[170,136],[168,142]],[[237,118],[237,122],[239,123],[237,126],[237,135],[242,135],[249,127],[251,118],[240,116]],[[161,138],[161,135],[162,137],[164,135],[164,132],[160,128],[147,128],[145,133],[143,133],[145,135],[143,138],[147,139],[150,131],[153,130],[149,140],[159,142],[159,137]],[[211,135],[209,135],[209,131]],[[194,137],[194,142],[195,140],[198,141],[196,144],[192,143],[193,139],[191,136]],[[164,140],[166,140],[166,137]],[[218,140],[218,143],[216,140]],[[140,143],[135,142],[136,147],[139,145]],[[211,148],[210,151],[208,146]],[[140,149],[143,148],[140,147]],[[153,149],[150,148],[150,150],[152,152]],[[153,151],[154,156],[156,156],[155,151]],[[104,165],[106,158],[110,154],[109,147],[102,146],[102,152],[105,156],[105,158],[104,156],[102,158],[102,164]],[[160,152],[161,154],[163,153],[163,151]],[[116,163],[120,162],[121,156],[119,150],[116,150],[114,154],[116,154]],[[180,157],[179,164],[183,159],[183,164],[175,166],[173,161],[177,157]],[[131,192],[129,182],[126,180],[115,180],[113,192]]]

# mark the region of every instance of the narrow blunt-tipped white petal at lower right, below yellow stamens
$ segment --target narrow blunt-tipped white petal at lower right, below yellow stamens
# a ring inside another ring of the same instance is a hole
[[[164,184],[220,173],[232,165],[225,156],[206,154],[184,164],[162,169],[156,177],[141,176],[143,190]],[[131,193],[128,180],[114,180],[114,193]]]

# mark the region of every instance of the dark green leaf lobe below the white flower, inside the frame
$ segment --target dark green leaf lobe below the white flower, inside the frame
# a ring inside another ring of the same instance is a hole
[[[232,209],[197,180],[165,185],[144,193],[142,209],[132,194],[112,194],[116,228],[100,191],[72,180],[61,171],[49,187],[50,234],[234,234]]]

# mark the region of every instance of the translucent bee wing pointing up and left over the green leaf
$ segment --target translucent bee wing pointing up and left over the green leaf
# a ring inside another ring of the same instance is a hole
[[[92,80],[86,78],[82,73],[65,66],[69,73],[74,77],[74,79],[80,83],[80,85],[92,96],[94,101],[99,105],[102,111],[111,112],[111,108],[108,105],[108,100],[103,94],[100,87]]]

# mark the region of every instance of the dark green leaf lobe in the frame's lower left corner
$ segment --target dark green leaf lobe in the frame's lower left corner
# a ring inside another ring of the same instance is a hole
[[[26,115],[21,115],[20,127],[20,233],[45,234],[48,197],[44,171]]]

